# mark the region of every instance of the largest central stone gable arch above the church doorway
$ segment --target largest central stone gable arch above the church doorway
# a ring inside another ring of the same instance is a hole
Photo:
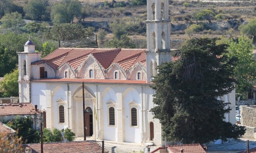
[[[89,70],[94,70],[94,76],[93,78],[96,79],[105,79],[105,73],[104,68],[101,64],[94,58],[92,54],[88,55],[86,59],[81,63],[81,65],[77,68],[77,76],[78,78],[89,78]]]

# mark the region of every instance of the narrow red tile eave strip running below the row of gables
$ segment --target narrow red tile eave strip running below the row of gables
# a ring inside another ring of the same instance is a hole
[[[77,82],[77,83],[99,83],[99,84],[148,84],[145,80],[121,80],[121,79],[72,79],[61,78],[51,79],[45,78],[40,80],[32,80],[33,82]],[[0,113],[1,114],[1,113]]]

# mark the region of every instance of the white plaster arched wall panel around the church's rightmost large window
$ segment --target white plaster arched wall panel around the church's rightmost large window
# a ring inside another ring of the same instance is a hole
[[[125,116],[125,142],[141,143],[141,96],[134,88],[129,88],[124,92],[124,116]],[[131,107],[129,103],[137,103],[137,126],[131,126]]]

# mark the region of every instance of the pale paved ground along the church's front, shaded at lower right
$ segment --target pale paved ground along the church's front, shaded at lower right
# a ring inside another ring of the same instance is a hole
[[[87,140],[93,140],[94,137],[87,137]],[[76,138],[76,141],[81,141],[83,138]],[[207,152],[211,153],[233,153],[233,152],[239,152],[246,150],[247,139],[238,139],[238,140],[232,140],[229,143],[225,144],[218,144],[218,145],[207,145],[208,150]],[[109,150],[110,153],[137,153],[140,151],[143,152],[144,148],[146,148],[146,145],[144,144],[137,144],[137,143],[125,143],[125,142],[114,142],[114,141],[104,141],[105,149]],[[249,140],[249,148],[256,147],[256,139]],[[156,149],[156,146],[151,147],[151,151]]]

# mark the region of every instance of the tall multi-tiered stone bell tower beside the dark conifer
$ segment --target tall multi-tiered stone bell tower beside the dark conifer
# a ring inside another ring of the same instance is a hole
[[[147,82],[157,74],[156,67],[170,62],[170,20],[168,0],[147,0],[146,70]]]

